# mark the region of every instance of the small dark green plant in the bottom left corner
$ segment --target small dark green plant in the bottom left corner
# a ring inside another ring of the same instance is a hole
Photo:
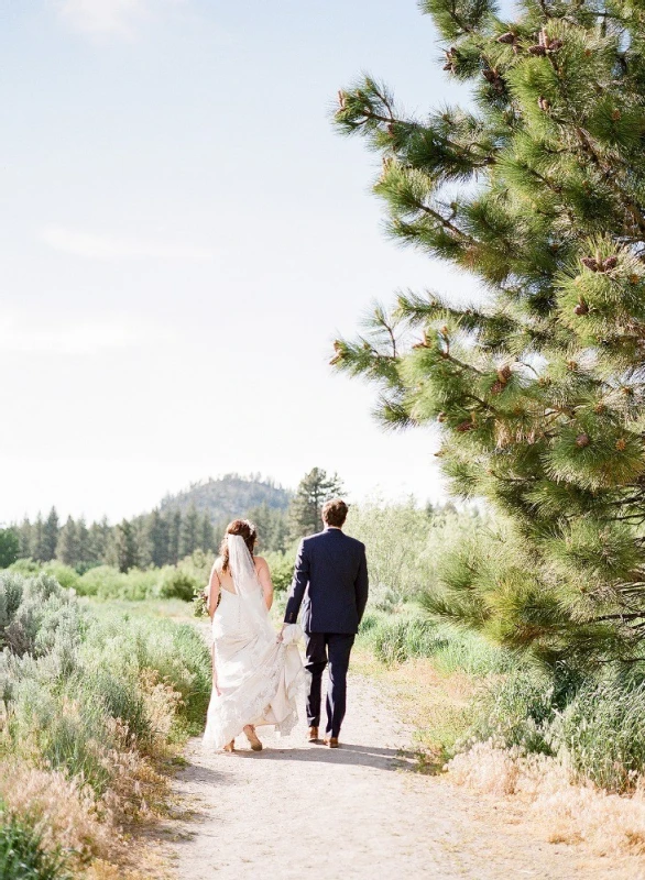
[[[45,853],[34,828],[10,815],[0,802],[0,877],[2,880],[67,880],[58,851]]]

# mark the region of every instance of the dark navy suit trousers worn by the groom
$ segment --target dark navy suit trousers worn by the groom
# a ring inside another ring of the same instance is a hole
[[[307,662],[311,686],[307,698],[309,727],[320,725],[322,702],[322,672],[329,663],[327,689],[327,736],[338,737],[347,706],[347,670],[356,636],[350,632],[305,632]]]

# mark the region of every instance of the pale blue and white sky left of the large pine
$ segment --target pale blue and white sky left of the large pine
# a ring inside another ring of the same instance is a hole
[[[328,366],[373,299],[474,282],[383,233],[336,134],[361,70],[461,96],[414,0],[0,0],[0,522],[112,520],[231,471],[440,496]]]

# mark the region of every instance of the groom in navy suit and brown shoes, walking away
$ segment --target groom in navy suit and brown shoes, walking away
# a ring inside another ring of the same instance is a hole
[[[349,654],[369,590],[365,546],[343,534],[346,518],[347,504],[339,498],[322,507],[325,530],[300,543],[284,615],[285,625],[295,624],[303,605],[305,667],[311,673],[307,698],[309,743],[318,740],[322,672],[329,663],[325,745],[332,749],[339,745]]]

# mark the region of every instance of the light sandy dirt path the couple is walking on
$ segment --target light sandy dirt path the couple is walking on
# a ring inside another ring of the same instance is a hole
[[[244,737],[234,755],[189,745],[176,780],[193,811],[175,836],[179,880],[645,878],[633,859],[549,844],[503,804],[414,772],[409,732],[380,690],[356,675],[341,749],[309,746],[304,721],[288,739],[263,739],[260,754]]]

